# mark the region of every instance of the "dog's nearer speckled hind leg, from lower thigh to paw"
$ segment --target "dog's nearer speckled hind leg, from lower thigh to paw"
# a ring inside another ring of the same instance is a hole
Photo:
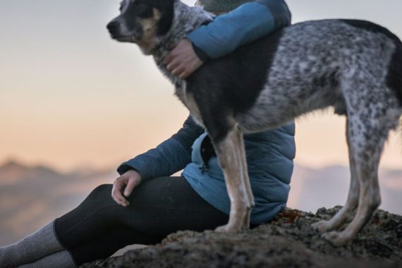
[[[380,122],[387,119],[389,118],[373,118],[367,111],[365,114],[355,114],[353,118],[348,119],[349,133],[351,133],[349,142],[359,179],[360,195],[358,210],[351,224],[344,231],[323,234],[324,238],[336,246],[350,243],[379,207],[381,197],[377,175],[378,165],[389,132],[386,123]]]

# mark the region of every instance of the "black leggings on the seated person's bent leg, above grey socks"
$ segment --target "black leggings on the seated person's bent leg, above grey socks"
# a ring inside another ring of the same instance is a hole
[[[77,208],[56,219],[56,234],[79,265],[109,257],[126,245],[159,243],[169,233],[214,229],[229,219],[183,177],[142,181],[128,197],[128,207],[114,202],[111,188],[100,185]]]

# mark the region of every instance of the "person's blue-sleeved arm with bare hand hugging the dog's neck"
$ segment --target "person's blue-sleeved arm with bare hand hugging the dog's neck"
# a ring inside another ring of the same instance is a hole
[[[291,12],[284,0],[249,2],[190,32],[164,63],[169,71],[184,79],[208,59],[229,54],[242,44],[290,24]]]

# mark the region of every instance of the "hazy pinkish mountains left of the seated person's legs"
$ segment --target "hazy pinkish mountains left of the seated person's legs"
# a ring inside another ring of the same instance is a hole
[[[97,185],[113,183],[116,171],[60,173],[16,161],[0,166],[0,246],[13,243],[76,207]]]

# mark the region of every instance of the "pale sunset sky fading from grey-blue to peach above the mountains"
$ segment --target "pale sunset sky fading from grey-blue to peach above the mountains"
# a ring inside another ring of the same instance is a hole
[[[118,3],[0,1],[0,164],[110,169],[181,127],[188,111],[152,58],[110,39],[106,24]],[[400,0],[287,3],[293,23],[360,18],[402,37]],[[319,111],[296,122],[298,164],[348,164],[345,118]],[[382,166],[401,166],[401,145],[393,133]]]

